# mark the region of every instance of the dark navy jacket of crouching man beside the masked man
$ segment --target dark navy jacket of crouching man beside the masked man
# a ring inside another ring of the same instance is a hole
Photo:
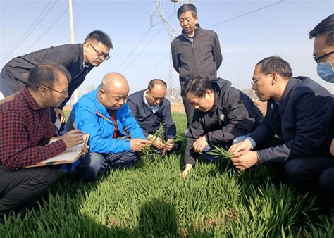
[[[292,77],[280,104],[269,99],[264,121],[249,136],[258,146],[277,134],[285,144],[257,151],[261,163],[330,155],[334,132],[334,99],[308,77]]]

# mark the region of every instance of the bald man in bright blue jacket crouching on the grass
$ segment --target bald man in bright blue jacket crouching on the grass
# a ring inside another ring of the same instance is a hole
[[[130,113],[125,101],[129,85],[123,75],[108,73],[96,90],[85,94],[75,104],[66,123],[89,136],[89,154],[76,168],[83,180],[93,182],[110,168],[124,168],[139,159],[150,142]]]

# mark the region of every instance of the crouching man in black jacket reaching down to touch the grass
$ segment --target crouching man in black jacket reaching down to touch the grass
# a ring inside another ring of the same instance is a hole
[[[242,141],[263,119],[252,99],[231,87],[227,80],[210,81],[195,75],[185,82],[182,94],[195,108],[186,136],[183,177],[192,169],[199,153],[212,161],[214,158],[206,153],[210,146],[228,147]]]

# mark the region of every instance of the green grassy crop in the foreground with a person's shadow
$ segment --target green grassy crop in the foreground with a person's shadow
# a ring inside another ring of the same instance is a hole
[[[173,118],[184,132],[185,115]],[[60,175],[34,208],[6,217],[0,237],[333,237],[334,216],[269,168],[238,174],[228,159],[199,158],[183,180],[182,154],[142,158],[92,184]]]

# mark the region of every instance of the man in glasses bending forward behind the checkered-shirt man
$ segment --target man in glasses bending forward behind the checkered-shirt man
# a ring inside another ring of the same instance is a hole
[[[61,109],[66,105],[75,89],[85,80],[87,73],[110,58],[109,51],[112,48],[113,44],[109,36],[100,30],[94,30],[87,35],[83,44],[65,44],[13,58],[1,71],[0,100],[20,91],[27,84],[30,70],[36,65],[59,63],[68,70],[72,77],[68,86],[68,96],[58,108],[55,108],[56,116],[60,115],[63,122],[65,118]]]

